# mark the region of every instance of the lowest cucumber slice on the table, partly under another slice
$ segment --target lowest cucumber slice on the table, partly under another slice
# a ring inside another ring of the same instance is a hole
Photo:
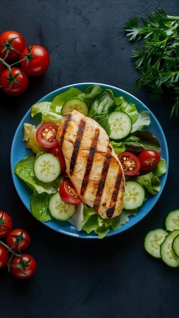
[[[174,238],[179,234],[179,230],[173,230],[164,239],[160,245],[160,255],[163,262],[170,267],[179,266],[179,258],[176,256],[172,249],[172,243]]]

